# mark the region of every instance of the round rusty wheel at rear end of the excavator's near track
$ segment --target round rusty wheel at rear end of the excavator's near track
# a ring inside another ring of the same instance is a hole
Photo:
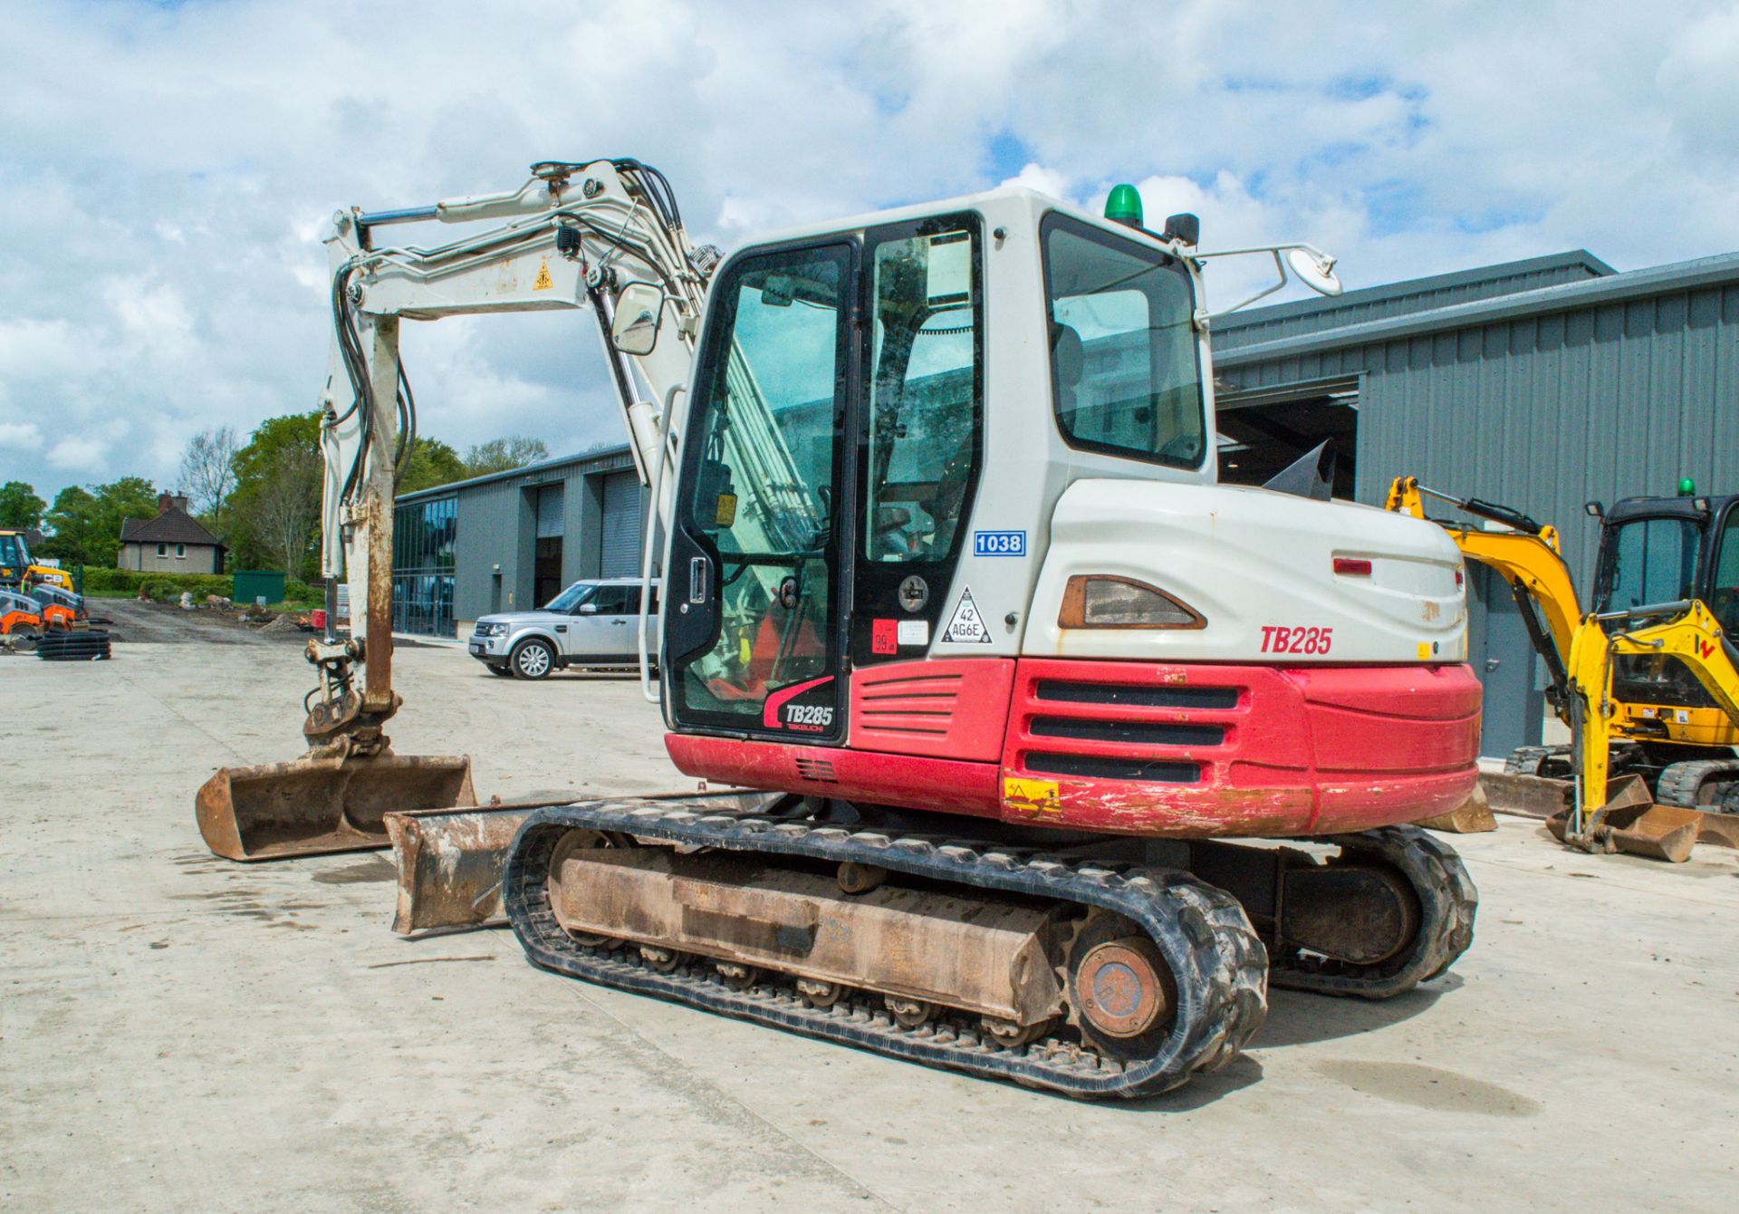
[[[1092,1045],[1116,1057],[1144,1057],[1170,1031],[1177,979],[1158,944],[1129,920],[1103,915],[1075,939],[1069,1004]]]

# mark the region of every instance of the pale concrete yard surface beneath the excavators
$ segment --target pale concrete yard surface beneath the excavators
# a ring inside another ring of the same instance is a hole
[[[403,941],[388,852],[212,857],[193,793],[299,753],[294,645],[117,612],[0,657],[0,1209],[1732,1211],[1739,854],[1452,838],[1482,906],[1388,1004],[1271,993],[1229,1068],[1083,1104]],[[158,640],[129,640],[150,635]],[[690,788],[633,678],[398,652],[400,753],[487,798]]]

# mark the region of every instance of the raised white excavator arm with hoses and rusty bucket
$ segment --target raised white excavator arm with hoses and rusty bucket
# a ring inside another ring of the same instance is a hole
[[[426,247],[381,240],[403,223],[464,230]],[[386,810],[475,804],[468,758],[398,757],[384,734],[402,703],[391,677],[393,485],[416,442],[402,322],[590,308],[663,522],[675,487],[673,410],[718,263],[715,249],[689,242],[663,174],[638,160],[546,162],[506,193],[341,210],[325,243],[334,322],[320,393],[327,630],[306,649],[318,670],[303,725],[308,753],[223,769],[200,790],[200,830],[231,859],[386,847]],[[753,437],[746,424],[744,438]],[[790,457],[769,447],[772,461],[779,454]],[[339,579],[350,586],[348,637],[334,626]]]

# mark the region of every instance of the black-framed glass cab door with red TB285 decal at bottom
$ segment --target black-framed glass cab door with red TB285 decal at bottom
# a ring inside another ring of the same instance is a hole
[[[663,677],[673,725],[845,737],[843,435],[856,247],[732,261],[683,435]]]

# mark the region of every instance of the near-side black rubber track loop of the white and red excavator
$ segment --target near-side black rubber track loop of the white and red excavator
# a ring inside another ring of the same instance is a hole
[[[621,831],[703,847],[856,861],[956,885],[1103,906],[1146,931],[1177,976],[1176,1026],[1160,1051],[1118,1061],[1089,1045],[1049,1037],[1005,1049],[977,1030],[977,1017],[944,1011],[915,1030],[892,1023],[868,991],[831,1009],[812,1009],[790,988],[762,983],[732,990],[704,960],[671,974],[647,967],[636,950],[590,950],[550,910],[550,854],[572,828]],[[513,932],[534,965],[626,991],[843,1042],[894,1057],[1012,1080],[1078,1097],[1139,1097],[1177,1087],[1196,1071],[1224,1066],[1268,1016],[1268,953],[1243,908],[1189,873],[1092,861],[1071,863],[1017,847],[986,847],[944,837],[847,831],[774,817],[697,814],[670,802],[588,802],[532,814],[513,840],[503,880]]]

